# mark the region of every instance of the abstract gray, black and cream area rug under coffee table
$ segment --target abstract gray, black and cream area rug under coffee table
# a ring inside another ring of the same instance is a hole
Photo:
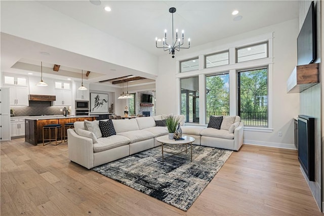
[[[181,147],[165,148],[176,150]],[[93,170],[187,211],[232,152],[193,145],[192,162],[190,158],[181,156],[162,161],[161,147],[156,147],[94,167]]]

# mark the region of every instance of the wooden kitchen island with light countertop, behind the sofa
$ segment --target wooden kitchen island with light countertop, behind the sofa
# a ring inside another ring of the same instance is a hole
[[[43,127],[49,124],[61,124],[62,136],[64,136],[64,124],[78,121],[93,121],[98,116],[35,116],[25,118],[25,141],[37,146],[38,143],[43,143]],[[49,132],[46,130],[44,136],[49,137]],[[51,137],[55,137],[55,131],[52,130]],[[58,139],[64,139],[61,137],[61,133],[58,134]]]

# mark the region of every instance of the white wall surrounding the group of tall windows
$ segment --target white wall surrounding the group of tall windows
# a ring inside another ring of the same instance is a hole
[[[294,148],[294,121],[299,114],[299,95],[287,93],[287,80],[297,64],[297,35],[298,19],[271,25],[254,31],[235,35],[220,41],[189,49],[192,55],[208,53],[217,50],[224,44],[231,44],[241,40],[254,38],[257,35],[273,32],[273,131],[258,132],[245,131],[245,143],[273,146],[281,148]],[[180,52],[176,53],[178,59],[190,56]],[[193,57],[193,56],[192,56]],[[156,79],[156,113],[179,113],[177,102],[176,60],[169,55],[159,57],[158,77]],[[166,105],[168,104],[168,105]],[[282,136],[278,136],[278,131]]]

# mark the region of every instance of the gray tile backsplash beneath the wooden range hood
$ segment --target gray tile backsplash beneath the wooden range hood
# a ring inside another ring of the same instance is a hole
[[[51,101],[29,101],[29,106],[11,106],[17,116],[63,115],[64,106],[53,106]],[[68,109],[68,106],[66,106]]]

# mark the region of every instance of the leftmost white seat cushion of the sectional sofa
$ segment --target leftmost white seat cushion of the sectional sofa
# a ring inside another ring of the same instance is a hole
[[[98,143],[93,145],[93,151],[102,152],[108,149],[127,145],[128,143],[130,143],[130,139],[125,136],[112,135],[109,137],[101,137],[98,139]]]

